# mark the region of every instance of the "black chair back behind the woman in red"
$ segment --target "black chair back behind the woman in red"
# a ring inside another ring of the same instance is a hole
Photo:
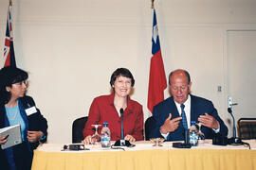
[[[81,143],[83,140],[82,130],[87,122],[88,116],[76,119],[72,125],[72,143]]]

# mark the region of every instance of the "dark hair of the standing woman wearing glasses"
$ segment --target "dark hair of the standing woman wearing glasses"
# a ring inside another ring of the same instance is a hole
[[[26,71],[13,66],[4,67],[0,70],[0,99],[1,102],[8,103],[10,93],[6,87],[11,87],[12,84],[24,81],[28,78]]]

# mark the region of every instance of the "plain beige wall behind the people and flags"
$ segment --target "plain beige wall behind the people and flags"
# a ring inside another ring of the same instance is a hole
[[[132,98],[143,105],[145,118],[150,115],[150,6],[150,0],[13,1],[17,65],[29,72],[28,94],[48,120],[48,143],[71,142],[73,120],[88,114],[94,97],[109,93],[118,67],[131,70],[136,78]],[[255,29],[256,2],[161,0],[155,8],[166,76],[187,69],[192,93],[212,100],[227,121],[227,30]],[[0,49],[7,10],[8,1],[1,0]]]

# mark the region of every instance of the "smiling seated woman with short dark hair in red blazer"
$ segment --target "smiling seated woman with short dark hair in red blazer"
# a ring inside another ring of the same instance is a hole
[[[126,68],[117,69],[110,78],[113,93],[96,97],[90,107],[88,121],[83,129],[82,143],[91,144],[94,130],[92,125],[108,123],[111,131],[111,141],[120,140],[120,113],[123,109],[124,140],[129,142],[144,140],[143,110],[137,101],[129,97],[135,85],[134,76]],[[101,132],[101,131],[100,131]]]

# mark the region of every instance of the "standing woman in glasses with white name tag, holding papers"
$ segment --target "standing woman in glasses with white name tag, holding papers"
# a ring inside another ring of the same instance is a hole
[[[29,170],[33,150],[45,143],[47,121],[35,108],[34,100],[25,95],[27,72],[16,67],[0,70],[0,128],[21,126],[22,143],[6,149],[0,147],[0,167],[5,170]],[[0,137],[0,145],[8,141]]]

